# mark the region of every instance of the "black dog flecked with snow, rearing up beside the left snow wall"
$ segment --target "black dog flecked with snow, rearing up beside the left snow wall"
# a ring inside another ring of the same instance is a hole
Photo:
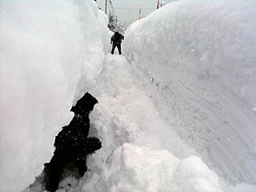
[[[86,93],[78,100],[70,111],[74,112],[74,118],[68,126],[63,126],[55,138],[54,157],[45,164],[46,190],[55,192],[58,183],[62,179],[63,170],[70,163],[78,168],[82,175],[87,171],[86,157],[102,147],[98,138],[88,137],[90,130],[90,112],[98,100]]]

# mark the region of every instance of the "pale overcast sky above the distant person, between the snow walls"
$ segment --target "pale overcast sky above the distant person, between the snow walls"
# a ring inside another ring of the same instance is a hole
[[[97,0],[98,6],[105,11],[106,0]],[[112,0],[114,11],[118,15],[118,21],[130,24],[138,20],[139,9],[142,9],[141,18],[156,10],[158,0]],[[170,0],[160,0],[160,2],[170,2]]]

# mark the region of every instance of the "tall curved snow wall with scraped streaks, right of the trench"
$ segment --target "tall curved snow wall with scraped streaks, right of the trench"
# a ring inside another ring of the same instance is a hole
[[[124,54],[174,130],[219,176],[256,182],[256,3],[179,1],[134,22]]]

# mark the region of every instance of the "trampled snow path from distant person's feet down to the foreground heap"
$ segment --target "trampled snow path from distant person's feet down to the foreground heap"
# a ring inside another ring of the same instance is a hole
[[[112,134],[121,137],[122,142],[149,146],[154,150],[170,150],[178,158],[197,154],[160,117],[154,102],[143,93],[141,82],[135,78],[124,56],[106,54],[102,74],[96,84],[96,89],[90,91],[99,102],[95,111],[100,110],[102,116],[107,115],[107,119],[111,119],[109,129],[114,125],[118,133]],[[94,114],[91,119],[94,122]]]

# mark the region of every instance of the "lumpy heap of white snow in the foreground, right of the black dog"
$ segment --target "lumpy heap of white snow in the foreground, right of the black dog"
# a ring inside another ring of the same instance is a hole
[[[107,159],[107,191],[221,191],[218,176],[191,156],[180,161],[168,150],[125,143]]]

